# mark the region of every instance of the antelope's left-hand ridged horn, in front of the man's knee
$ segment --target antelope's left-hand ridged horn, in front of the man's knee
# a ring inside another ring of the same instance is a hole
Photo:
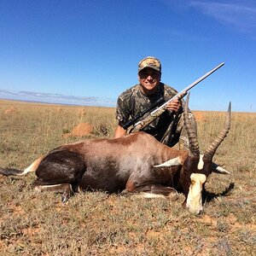
[[[190,93],[189,93],[190,94]],[[189,137],[189,154],[192,154],[192,156],[196,156],[199,157],[200,156],[200,151],[199,151],[199,146],[198,146],[198,142],[197,142],[197,138],[195,136],[195,131],[193,131],[190,123],[189,123],[189,94],[187,96],[186,99],[186,104],[183,108],[184,113],[184,126],[185,129],[188,133],[188,137]]]

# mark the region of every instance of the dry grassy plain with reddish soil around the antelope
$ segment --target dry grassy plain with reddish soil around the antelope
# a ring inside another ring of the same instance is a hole
[[[192,110],[193,111],[193,110]],[[224,125],[224,113],[195,112],[201,152]],[[81,140],[65,137],[88,122],[90,137],[113,137],[113,108],[0,101],[0,166],[23,169],[39,155]],[[33,191],[34,173],[0,176],[1,255],[255,255],[256,113],[232,113],[214,161],[231,172],[212,174],[201,216],[177,201]],[[84,139],[83,138],[83,139]]]

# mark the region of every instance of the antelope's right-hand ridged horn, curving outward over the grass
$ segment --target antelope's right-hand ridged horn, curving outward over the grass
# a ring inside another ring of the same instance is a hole
[[[216,137],[216,139],[214,140],[214,142],[207,148],[204,156],[206,157],[206,159],[211,159],[213,155],[215,154],[218,146],[220,145],[220,143],[222,143],[224,141],[224,138],[227,136],[228,132],[230,131],[230,116],[231,116],[231,102],[229,104],[229,108],[228,108],[228,112],[227,112],[227,118],[226,118],[226,122],[224,125],[224,129],[223,131],[221,131],[218,134],[218,137]]]

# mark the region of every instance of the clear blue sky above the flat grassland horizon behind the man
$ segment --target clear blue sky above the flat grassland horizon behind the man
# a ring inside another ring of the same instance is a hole
[[[256,2],[1,0],[0,98],[115,107],[137,62],[191,90],[190,108],[256,112]]]

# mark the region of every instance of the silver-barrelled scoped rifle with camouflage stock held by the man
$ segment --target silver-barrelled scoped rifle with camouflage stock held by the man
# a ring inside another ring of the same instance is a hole
[[[176,96],[173,96],[170,100],[166,101],[164,104],[162,104],[159,108],[155,108],[151,113],[148,114],[144,119],[137,122],[137,119],[140,119],[145,113],[148,113],[152,108],[156,106],[156,104],[153,104],[154,106],[150,107],[149,109],[146,109],[143,111],[143,113],[139,116],[137,116],[134,119],[131,119],[128,121],[123,128],[126,130],[131,125],[134,125],[131,132],[141,131],[145,126],[149,125],[151,122],[154,121],[154,119],[158,118],[160,114],[164,113],[166,111],[166,105],[169,102],[172,102],[175,99],[182,99],[183,96],[185,96],[190,89],[192,89],[196,84],[199,84],[203,79],[206,79],[209,75],[214,73],[216,70],[218,70],[219,67],[224,66],[224,62],[220,63],[217,67],[214,67],[212,70],[201,76],[201,78],[195,80],[194,83],[189,84],[185,89],[183,89],[181,92],[177,93]],[[158,102],[159,103],[159,102]],[[136,123],[137,122],[137,123]]]

